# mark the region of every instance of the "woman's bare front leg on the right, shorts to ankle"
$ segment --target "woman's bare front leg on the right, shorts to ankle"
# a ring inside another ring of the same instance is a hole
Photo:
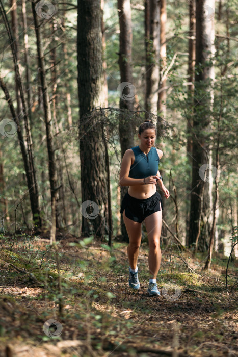
[[[161,264],[160,238],[162,227],[162,209],[145,218],[145,227],[149,241],[148,260],[150,278],[156,279]]]

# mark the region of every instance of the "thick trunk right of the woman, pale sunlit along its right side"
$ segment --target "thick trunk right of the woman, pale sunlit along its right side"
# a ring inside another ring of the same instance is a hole
[[[210,118],[213,105],[212,79],[214,78],[214,13],[215,0],[196,2],[196,68],[193,121],[193,168],[189,225],[189,245],[196,242],[201,228],[198,249],[207,249],[209,214],[211,212],[211,151]],[[199,171],[200,169],[200,171]],[[207,179],[205,179],[205,171]],[[205,181],[206,180],[206,181]],[[202,197],[202,189],[204,192]],[[203,209],[201,212],[201,201]],[[201,226],[199,218],[201,217]]]

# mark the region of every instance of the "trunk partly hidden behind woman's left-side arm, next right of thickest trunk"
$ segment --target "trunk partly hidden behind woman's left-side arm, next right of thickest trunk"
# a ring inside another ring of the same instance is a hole
[[[133,111],[135,103],[135,87],[132,84],[132,22],[129,0],[118,0],[118,16],[120,25],[119,68],[121,83],[119,85],[120,109]],[[119,138],[121,158],[127,149],[134,146],[134,123],[131,114],[121,113],[119,117]],[[127,191],[121,186],[121,202]],[[127,232],[121,214],[122,239],[127,240]]]

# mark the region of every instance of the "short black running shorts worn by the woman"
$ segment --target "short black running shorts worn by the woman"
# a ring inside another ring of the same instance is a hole
[[[163,210],[161,195],[156,191],[152,196],[145,199],[137,199],[131,197],[126,192],[121,203],[120,213],[125,210],[125,216],[135,222],[142,223],[142,221],[154,212]]]

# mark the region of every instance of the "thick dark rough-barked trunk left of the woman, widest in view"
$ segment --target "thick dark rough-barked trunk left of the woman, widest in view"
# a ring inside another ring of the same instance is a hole
[[[100,0],[78,0],[77,31],[81,208],[86,211],[86,201],[95,202],[93,208],[98,208],[94,219],[87,219],[86,212],[82,215],[82,236],[94,233],[103,238],[108,231],[106,167],[100,117],[92,113],[95,107],[104,106]]]

